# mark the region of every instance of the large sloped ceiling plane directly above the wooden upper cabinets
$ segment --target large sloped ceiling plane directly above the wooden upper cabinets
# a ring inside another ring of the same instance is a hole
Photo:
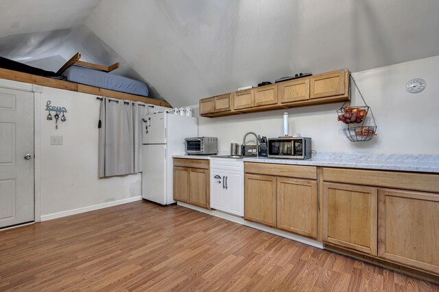
[[[439,54],[438,0],[129,3],[102,1],[85,25],[174,107],[299,72]]]

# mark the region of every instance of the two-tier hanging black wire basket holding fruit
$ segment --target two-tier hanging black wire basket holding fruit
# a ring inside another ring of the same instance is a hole
[[[357,88],[364,106],[351,106],[351,101],[346,101],[340,109],[337,110],[337,119],[347,127],[343,129],[344,135],[348,140],[352,142],[369,141],[375,137],[377,133],[377,122],[373,116],[372,109],[367,105],[364,100],[363,94],[359,91],[355,79],[352,75],[349,75],[349,91],[351,91],[351,80],[353,81],[355,88]],[[351,93],[351,92],[349,92]],[[351,96],[351,94],[349,94]],[[346,104],[347,103],[347,104]],[[368,114],[372,117],[373,124],[365,124],[368,119]]]

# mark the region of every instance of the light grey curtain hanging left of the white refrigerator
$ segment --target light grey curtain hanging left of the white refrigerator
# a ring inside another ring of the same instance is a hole
[[[142,116],[147,105],[103,98],[99,109],[99,177],[141,172]]]

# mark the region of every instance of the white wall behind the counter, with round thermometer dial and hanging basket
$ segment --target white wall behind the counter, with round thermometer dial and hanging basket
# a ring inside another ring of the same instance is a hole
[[[290,133],[311,137],[318,152],[439,154],[439,56],[355,72],[353,76],[377,120],[378,135],[368,142],[349,142],[344,137],[344,124],[337,122],[336,114],[341,103],[200,118],[199,135],[217,136],[219,150],[229,150],[230,142],[241,144],[248,131],[267,137],[282,135],[283,112],[288,112]],[[416,77],[425,79],[427,88],[410,94],[405,84]],[[352,105],[363,105],[357,92]]]

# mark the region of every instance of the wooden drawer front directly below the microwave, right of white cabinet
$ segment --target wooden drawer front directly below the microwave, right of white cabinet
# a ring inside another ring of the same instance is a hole
[[[316,166],[246,162],[244,169],[246,173],[250,174],[317,179]]]

